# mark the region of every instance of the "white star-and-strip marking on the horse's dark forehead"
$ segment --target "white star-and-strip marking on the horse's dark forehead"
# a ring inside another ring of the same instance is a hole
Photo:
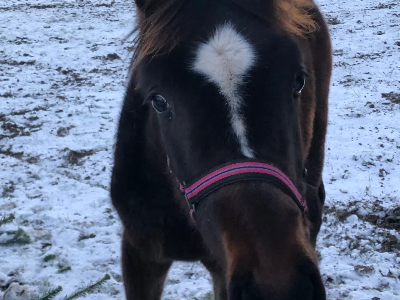
[[[254,62],[252,46],[228,23],[217,28],[214,36],[200,45],[193,65],[194,70],[218,86],[229,106],[230,123],[240,149],[249,158],[254,157],[254,150],[250,148],[246,137],[240,85]]]

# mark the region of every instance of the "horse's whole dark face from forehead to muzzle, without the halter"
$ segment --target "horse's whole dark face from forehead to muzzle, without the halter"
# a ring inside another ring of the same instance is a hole
[[[222,23],[136,68],[160,156],[183,182],[254,158],[303,184],[300,96],[312,88],[302,51],[289,36],[254,31]],[[199,204],[196,223],[227,270],[231,300],[325,299],[300,210],[272,184],[221,188]]]

